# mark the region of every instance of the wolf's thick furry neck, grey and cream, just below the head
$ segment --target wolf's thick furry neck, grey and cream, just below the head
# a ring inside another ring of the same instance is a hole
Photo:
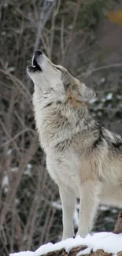
[[[41,104],[35,103],[34,106],[39,138],[45,149],[94,129],[95,121],[85,104],[79,108],[63,106],[60,102],[43,108]]]

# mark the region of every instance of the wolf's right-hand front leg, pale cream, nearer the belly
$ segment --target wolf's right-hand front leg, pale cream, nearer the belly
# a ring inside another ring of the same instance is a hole
[[[98,193],[100,184],[86,181],[79,187],[79,228],[77,235],[85,237],[91,231],[95,213],[98,208]]]

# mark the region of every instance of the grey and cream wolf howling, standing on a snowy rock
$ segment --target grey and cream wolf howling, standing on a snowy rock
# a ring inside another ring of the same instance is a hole
[[[46,166],[59,187],[62,239],[74,236],[76,198],[77,235],[85,237],[100,203],[122,207],[122,138],[91,117],[88,102],[94,91],[41,50],[35,51],[27,72],[35,85],[35,122]]]

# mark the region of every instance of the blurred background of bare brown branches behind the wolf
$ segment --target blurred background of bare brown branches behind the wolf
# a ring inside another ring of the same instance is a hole
[[[61,239],[61,202],[45,168],[26,74],[35,50],[94,88],[91,114],[122,135],[122,1],[1,0],[0,254]],[[100,206],[93,232],[119,209]],[[79,202],[74,217],[78,225]]]

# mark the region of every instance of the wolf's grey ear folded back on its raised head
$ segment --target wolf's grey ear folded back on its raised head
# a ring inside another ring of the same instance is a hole
[[[90,88],[86,87],[84,83],[80,83],[80,87],[78,87],[78,95],[77,99],[79,102],[88,102],[91,100],[91,98],[95,97],[94,91],[92,91]]]

